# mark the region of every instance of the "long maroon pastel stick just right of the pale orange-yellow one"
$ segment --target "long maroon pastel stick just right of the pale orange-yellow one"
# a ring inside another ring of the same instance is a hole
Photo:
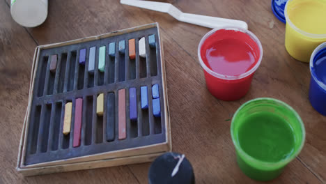
[[[80,146],[82,112],[83,112],[83,99],[77,98],[76,107],[75,107],[74,141],[72,143],[73,147]]]

